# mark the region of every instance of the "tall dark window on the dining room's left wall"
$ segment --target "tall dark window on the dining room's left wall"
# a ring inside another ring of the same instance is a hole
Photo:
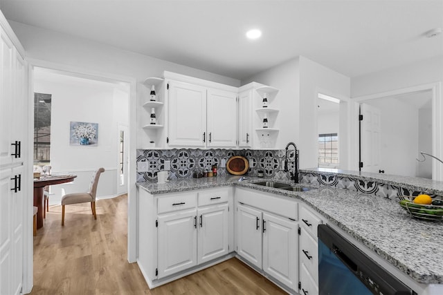
[[[34,93],[34,161],[50,162],[51,94]]]

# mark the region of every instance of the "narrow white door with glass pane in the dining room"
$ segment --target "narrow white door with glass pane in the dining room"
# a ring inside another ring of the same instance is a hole
[[[117,156],[117,193],[122,195],[127,193],[127,165],[128,165],[128,135],[127,126],[118,124],[118,156]]]

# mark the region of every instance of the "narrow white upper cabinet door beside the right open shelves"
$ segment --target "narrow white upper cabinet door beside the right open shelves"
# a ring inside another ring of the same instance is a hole
[[[243,148],[252,147],[252,91],[244,91],[239,94],[238,103],[238,146]]]

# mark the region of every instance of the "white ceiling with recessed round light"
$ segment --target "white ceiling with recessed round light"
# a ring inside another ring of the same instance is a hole
[[[356,77],[443,55],[443,0],[0,0],[7,19],[244,79],[298,55]],[[260,28],[262,38],[244,37]],[[25,48],[26,49],[26,48]]]

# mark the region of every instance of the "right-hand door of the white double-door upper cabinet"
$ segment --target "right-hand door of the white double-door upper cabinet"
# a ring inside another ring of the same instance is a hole
[[[237,146],[237,93],[208,89],[208,146]]]

